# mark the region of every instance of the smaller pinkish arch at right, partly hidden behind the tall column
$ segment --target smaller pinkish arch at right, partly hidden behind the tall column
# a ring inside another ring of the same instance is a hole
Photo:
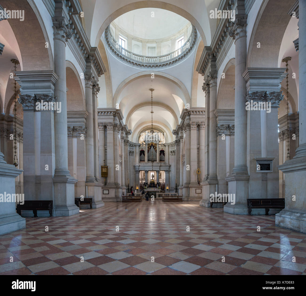
[[[217,92],[217,109],[235,109],[235,58],[231,58],[222,73],[225,78],[220,80]]]

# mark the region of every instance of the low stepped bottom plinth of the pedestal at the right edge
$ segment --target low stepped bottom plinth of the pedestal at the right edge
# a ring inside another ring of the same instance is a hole
[[[275,214],[275,225],[306,233],[306,213],[282,210]]]

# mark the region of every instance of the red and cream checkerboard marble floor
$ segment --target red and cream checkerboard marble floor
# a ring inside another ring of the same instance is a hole
[[[26,225],[0,236],[1,275],[306,274],[306,234],[198,202],[109,202]]]

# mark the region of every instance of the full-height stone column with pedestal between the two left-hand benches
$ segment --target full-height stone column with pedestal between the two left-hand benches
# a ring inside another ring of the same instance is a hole
[[[74,204],[74,184],[77,180],[71,177],[68,170],[68,137],[67,137],[67,96],[66,96],[66,54],[65,47],[72,33],[62,16],[63,2],[55,3],[55,15],[52,17],[54,30],[54,72],[58,80],[54,84],[54,96],[61,104],[61,112],[54,113],[55,133],[55,171],[54,183],[54,216],[70,216],[79,213]]]

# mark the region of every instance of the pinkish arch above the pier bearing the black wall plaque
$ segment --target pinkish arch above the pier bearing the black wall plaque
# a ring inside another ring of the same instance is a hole
[[[291,18],[287,12],[293,3],[288,0],[262,2],[248,45],[246,68],[278,67],[282,39]],[[260,42],[260,48],[257,48],[258,42]]]

